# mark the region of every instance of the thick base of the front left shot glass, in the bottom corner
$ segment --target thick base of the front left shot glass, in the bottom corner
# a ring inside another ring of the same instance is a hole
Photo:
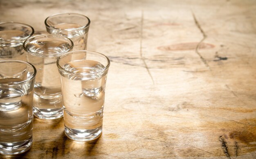
[[[0,154],[17,155],[26,152],[31,148],[33,143],[32,137],[23,142],[0,143]]]

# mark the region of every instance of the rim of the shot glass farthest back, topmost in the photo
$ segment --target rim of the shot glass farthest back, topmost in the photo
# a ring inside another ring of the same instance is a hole
[[[87,20],[88,20],[88,23],[85,25],[85,26],[81,26],[79,28],[70,28],[70,29],[60,29],[60,28],[55,28],[54,26],[50,26],[48,23],[47,23],[47,20],[49,18],[52,18],[52,17],[55,17],[55,16],[59,16],[59,15],[77,15],[77,16],[82,16],[82,17],[85,17]],[[47,17],[45,19],[45,26],[47,28],[50,28],[52,30],[65,30],[65,31],[72,31],[72,30],[82,30],[82,29],[85,29],[85,28],[88,28],[90,26],[90,19],[88,17],[86,17],[85,15],[83,14],[79,14],[79,13],[69,13],[69,12],[65,12],[65,13],[57,13],[57,14],[53,14],[53,15],[50,15],[49,17]]]

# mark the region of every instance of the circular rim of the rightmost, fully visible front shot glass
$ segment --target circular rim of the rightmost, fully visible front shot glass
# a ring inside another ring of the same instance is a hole
[[[95,55],[100,55],[100,56],[102,56],[102,57],[105,57],[106,60],[108,61],[108,64],[107,64],[103,69],[101,69],[101,70],[99,70],[99,71],[95,71],[95,72],[90,72],[90,73],[74,73],[74,72],[70,72],[70,71],[65,70],[65,68],[63,68],[63,67],[59,64],[59,61],[60,61],[63,57],[66,57],[66,56],[69,55],[69,54],[77,54],[77,53],[86,53],[86,54],[87,54],[87,52],[90,53],[90,54],[95,54]],[[75,76],[89,76],[89,75],[92,75],[92,74],[97,74],[97,73],[99,73],[99,72],[104,72],[104,71],[108,70],[108,68],[109,68],[109,66],[110,66],[110,60],[108,59],[108,57],[107,57],[106,55],[104,55],[104,54],[102,54],[102,53],[99,53],[99,52],[90,51],[90,50],[76,50],[76,51],[68,52],[68,53],[63,54],[63,55],[61,55],[60,57],[58,57],[56,64],[57,64],[57,67],[58,67],[59,70],[61,70],[61,71],[63,71],[63,72],[66,72],[66,73],[68,73],[68,74],[73,74],[73,75],[75,75]]]

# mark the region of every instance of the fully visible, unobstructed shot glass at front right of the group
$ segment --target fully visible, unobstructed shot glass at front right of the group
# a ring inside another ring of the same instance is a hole
[[[97,139],[102,132],[108,57],[98,52],[72,51],[59,57],[57,65],[65,134],[79,142]]]

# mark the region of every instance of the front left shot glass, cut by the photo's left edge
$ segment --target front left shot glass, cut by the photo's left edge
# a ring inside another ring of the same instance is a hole
[[[33,141],[36,68],[20,60],[0,60],[0,68],[0,154],[20,154]]]

